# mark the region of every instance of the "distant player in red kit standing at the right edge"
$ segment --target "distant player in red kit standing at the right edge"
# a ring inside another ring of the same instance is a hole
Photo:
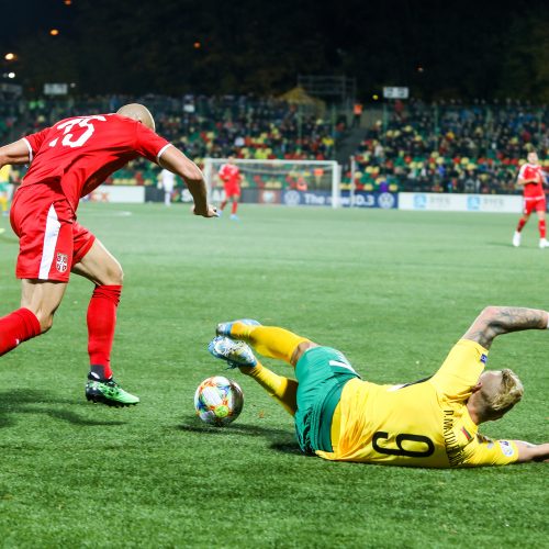
[[[544,171],[539,165],[538,155],[535,152],[528,153],[527,163],[520,166],[517,184],[523,187],[524,210],[523,216],[518,221],[515,234],[513,235],[513,246],[520,246],[520,232],[526,222],[530,219],[531,212],[538,214],[539,247],[549,247],[546,239],[546,193],[544,191]]]

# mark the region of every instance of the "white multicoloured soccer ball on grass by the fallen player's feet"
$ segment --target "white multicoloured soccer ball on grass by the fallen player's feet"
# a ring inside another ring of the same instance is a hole
[[[194,410],[204,422],[219,427],[234,422],[244,406],[238,383],[223,376],[208,378],[194,393]]]

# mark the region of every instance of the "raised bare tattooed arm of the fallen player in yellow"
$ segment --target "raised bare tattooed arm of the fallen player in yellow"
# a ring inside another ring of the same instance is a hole
[[[490,349],[495,337],[523,329],[545,329],[549,314],[538,309],[485,307],[467,330],[463,339],[470,339]]]

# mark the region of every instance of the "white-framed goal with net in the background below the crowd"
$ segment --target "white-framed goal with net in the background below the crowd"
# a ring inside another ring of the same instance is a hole
[[[220,169],[228,158],[204,158],[204,177],[214,202],[223,199]],[[240,172],[243,202],[285,205],[340,204],[340,168],[335,160],[231,160]]]

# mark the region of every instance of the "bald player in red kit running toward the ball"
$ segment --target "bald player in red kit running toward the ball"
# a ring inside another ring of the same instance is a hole
[[[47,332],[70,272],[85,277],[94,284],[87,314],[86,396],[112,406],[139,402],[113,380],[110,365],[123,273],[119,261],[77,222],[80,198],[142,156],[186,181],[195,215],[216,215],[198,166],[154,130],[150,112],[134,103],[115,114],[63,120],[0,147],[0,168],[30,164],[10,214],[20,240],[15,274],[22,283],[21,307],[0,318],[0,356]]]

